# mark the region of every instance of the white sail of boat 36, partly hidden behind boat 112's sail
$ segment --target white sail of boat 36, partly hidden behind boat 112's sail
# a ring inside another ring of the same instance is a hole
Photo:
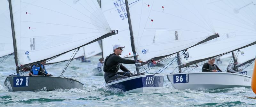
[[[256,5],[251,0],[206,2],[212,26],[220,37],[188,49],[183,64],[236,50],[256,42]],[[227,5],[228,4],[228,5]],[[182,57],[184,58],[184,57]]]

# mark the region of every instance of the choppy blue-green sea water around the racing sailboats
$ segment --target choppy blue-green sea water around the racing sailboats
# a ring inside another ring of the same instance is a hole
[[[225,88],[212,90],[177,90],[172,87],[167,77],[164,77],[164,87],[159,90],[152,90],[148,93],[123,93],[119,89],[103,87],[105,84],[103,76],[94,76],[92,69],[97,67],[100,56],[89,58],[91,63],[81,63],[80,60],[73,60],[65,71],[65,77],[71,77],[84,84],[83,89],[56,89],[53,91],[20,91],[9,92],[4,86],[5,78],[15,73],[15,62],[13,56],[0,63],[0,106],[25,107],[25,106],[114,106],[114,107],[137,107],[137,106],[173,106],[173,107],[229,107],[248,106],[255,107],[256,100],[247,96],[255,97],[251,88]],[[0,59],[1,60],[1,59]],[[172,59],[166,60],[167,64]],[[229,59],[223,59],[219,65],[223,71],[228,65]],[[48,73],[59,76],[67,62],[46,65]],[[130,71],[134,71],[134,65],[124,64]],[[177,64],[169,66],[162,73],[173,72]],[[252,69],[249,66],[247,69]],[[161,67],[151,69],[155,73]],[[199,72],[201,66],[191,72]],[[175,70],[177,71],[177,69]]]

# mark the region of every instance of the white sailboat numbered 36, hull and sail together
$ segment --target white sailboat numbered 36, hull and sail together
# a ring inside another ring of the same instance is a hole
[[[227,3],[230,6],[227,6]],[[207,0],[201,5],[207,7],[205,10],[210,13],[212,28],[220,34],[220,37],[188,49],[181,57],[184,57],[182,62],[185,62],[180,65],[181,68],[190,65],[197,67],[202,61],[256,44],[256,29],[253,27],[256,14],[254,11],[250,11],[255,10],[256,7],[252,1],[226,0],[212,2]],[[190,73],[189,70],[183,72],[167,75],[175,89],[201,90],[251,87],[251,77],[238,73],[201,71]]]

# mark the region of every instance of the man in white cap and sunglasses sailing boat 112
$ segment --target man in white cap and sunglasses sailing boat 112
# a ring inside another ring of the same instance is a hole
[[[124,46],[114,45],[114,53],[110,54],[105,59],[103,71],[105,72],[104,78],[106,83],[111,82],[111,80],[132,77],[133,75],[126,67],[122,65],[122,63],[135,64],[135,61],[119,57],[119,55],[122,54],[123,48]],[[123,72],[117,72],[119,69],[121,69]]]

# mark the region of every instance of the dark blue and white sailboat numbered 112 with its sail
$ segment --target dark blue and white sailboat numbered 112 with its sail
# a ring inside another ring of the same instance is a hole
[[[116,10],[124,7],[126,9],[122,13],[117,10],[115,14],[128,19],[132,52],[136,62],[140,59],[147,64],[154,58],[170,56],[219,36],[201,20],[202,16],[198,16],[200,7],[195,8],[184,1],[125,0],[125,6],[124,3],[121,5],[113,2]],[[172,11],[173,9],[176,11]],[[175,40],[175,31],[180,33],[179,40]],[[192,35],[197,35],[197,38]],[[155,36],[161,39],[156,40]],[[135,68],[137,76],[116,80],[105,86],[119,88],[125,93],[147,92],[163,87],[164,74],[141,75],[138,63]]]

